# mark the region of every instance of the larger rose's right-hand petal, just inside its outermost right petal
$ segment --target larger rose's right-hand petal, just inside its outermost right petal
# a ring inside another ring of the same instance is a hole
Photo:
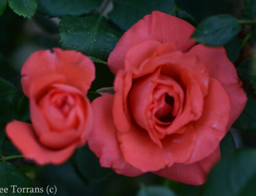
[[[209,94],[204,98],[202,117],[192,123],[197,141],[186,164],[202,160],[219,146],[229,128],[229,113],[230,102],[227,93],[218,80],[210,78]]]

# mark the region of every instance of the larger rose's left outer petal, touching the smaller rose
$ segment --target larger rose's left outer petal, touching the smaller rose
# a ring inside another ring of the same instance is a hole
[[[99,157],[102,167],[112,167],[125,176],[141,175],[142,171],[125,162],[119,149],[112,117],[113,99],[113,95],[103,94],[93,101],[94,127],[88,138],[89,147]]]

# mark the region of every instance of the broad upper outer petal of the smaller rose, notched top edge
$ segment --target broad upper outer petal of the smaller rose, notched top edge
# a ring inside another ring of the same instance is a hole
[[[30,98],[31,83],[37,78],[52,74],[65,77],[65,83],[87,93],[95,78],[95,68],[89,57],[76,51],[55,48],[33,53],[22,68],[22,86]],[[86,76],[86,77],[84,77]]]

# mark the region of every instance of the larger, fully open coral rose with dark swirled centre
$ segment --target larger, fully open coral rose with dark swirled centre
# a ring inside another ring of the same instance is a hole
[[[225,49],[196,45],[194,30],[155,11],[121,37],[108,59],[115,95],[92,103],[89,146],[101,166],[205,182],[247,98]]]

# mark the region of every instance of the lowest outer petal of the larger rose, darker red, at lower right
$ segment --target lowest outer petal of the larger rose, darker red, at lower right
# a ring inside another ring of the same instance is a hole
[[[188,164],[174,164],[172,167],[167,167],[154,172],[170,180],[191,185],[201,185],[205,182],[208,172],[220,159],[220,148],[218,147],[212,154],[203,160]]]

